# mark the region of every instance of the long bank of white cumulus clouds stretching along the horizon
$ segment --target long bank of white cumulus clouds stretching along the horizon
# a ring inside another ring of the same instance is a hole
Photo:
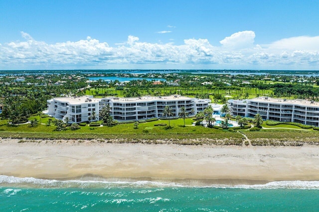
[[[226,37],[221,46],[208,39],[185,39],[183,44],[141,42],[129,35],[115,47],[90,36],[79,41],[48,44],[21,32],[24,41],[0,45],[0,69],[32,68],[208,68],[318,69],[319,37],[293,37],[254,45],[255,33]],[[301,44],[300,44],[301,42]],[[140,65],[140,66],[138,66]]]

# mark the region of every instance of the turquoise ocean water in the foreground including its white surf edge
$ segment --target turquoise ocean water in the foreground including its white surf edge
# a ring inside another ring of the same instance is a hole
[[[0,211],[319,211],[319,181],[190,187],[0,176]]]

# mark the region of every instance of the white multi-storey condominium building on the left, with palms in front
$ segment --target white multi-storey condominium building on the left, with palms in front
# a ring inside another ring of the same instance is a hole
[[[47,101],[48,114],[64,120],[69,118],[70,122],[84,122],[99,120],[100,110],[109,105],[111,116],[118,121],[140,120],[149,118],[161,118],[165,106],[172,108],[173,117],[177,117],[181,107],[186,108],[190,115],[203,111],[209,99],[196,99],[172,95],[166,97],[139,97],[139,98],[93,98],[92,96],[82,97],[59,97]],[[95,119],[93,118],[95,116]]]

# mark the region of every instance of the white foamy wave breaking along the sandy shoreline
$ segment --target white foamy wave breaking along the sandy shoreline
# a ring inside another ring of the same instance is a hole
[[[257,185],[206,185],[189,186],[173,182],[156,181],[105,181],[101,180],[45,180],[32,177],[13,177],[0,175],[0,187],[28,187],[28,188],[165,188],[165,187],[189,187],[189,188],[222,188],[222,189],[301,189],[319,190],[319,181],[275,181]],[[13,193],[18,190],[12,190]],[[5,190],[3,192],[12,192]],[[138,193],[149,193],[153,190],[134,191]],[[133,192],[133,193],[134,193]]]

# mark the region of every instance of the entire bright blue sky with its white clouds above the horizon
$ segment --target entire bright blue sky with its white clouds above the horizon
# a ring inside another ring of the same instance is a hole
[[[319,69],[319,0],[0,1],[0,70]]]

